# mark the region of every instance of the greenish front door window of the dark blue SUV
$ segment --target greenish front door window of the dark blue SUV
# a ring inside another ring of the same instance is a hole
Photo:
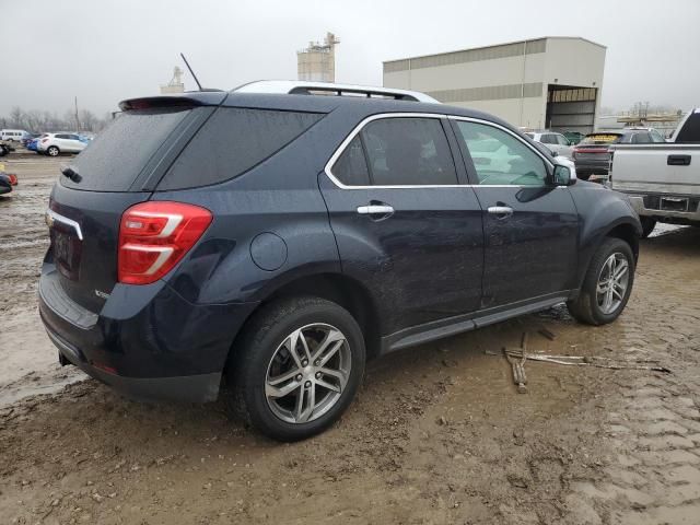
[[[457,138],[463,140],[479,184],[545,186],[545,161],[524,142],[502,129],[486,124],[457,120]]]

